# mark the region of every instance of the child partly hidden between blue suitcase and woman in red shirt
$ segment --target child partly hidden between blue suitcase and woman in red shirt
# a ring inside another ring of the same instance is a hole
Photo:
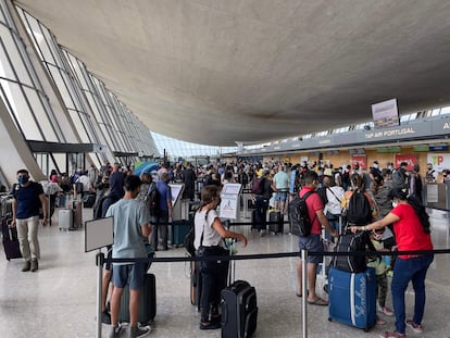
[[[383,234],[385,233],[385,228],[382,229],[374,229],[371,233],[371,241],[374,245],[377,251],[390,251],[389,249],[385,248]],[[376,274],[376,298],[377,298],[377,309],[379,312],[383,312],[385,315],[391,316],[393,315],[392,310],[386,306],[386,296],[388,291],[388,283],[387,283],[387,266],[385,260],[382,256],[374,256],[368,258],[367,260],[367,267],[374,267]],[[385,324],[386,322],[383,321],[377,316],[377,324]]]

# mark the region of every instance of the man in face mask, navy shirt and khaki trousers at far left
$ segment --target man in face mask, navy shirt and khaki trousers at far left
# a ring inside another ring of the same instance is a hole
[[[38,241],[39,209],[42,208],[42,225],[47,225],[47,198],[42,186],[29,180],[27,170],[17,171],[17,181],[13,186],[12,226],[17,227],[18,243],[25,260],[23,272],[38,270],[40,258]]]

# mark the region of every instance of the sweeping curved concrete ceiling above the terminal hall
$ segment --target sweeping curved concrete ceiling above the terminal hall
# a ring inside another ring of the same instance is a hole
[[[261,142],[450,103],[447,0],[23,0],[157,133]]]

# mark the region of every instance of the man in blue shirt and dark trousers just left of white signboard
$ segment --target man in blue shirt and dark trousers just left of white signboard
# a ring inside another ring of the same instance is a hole
[[[170,176],[167,173],[162,173],[160,180],[157,181],[159,210],[157,216],[157,224],[151,233],[151,247],[158,251],[158,230],[161,229],[161,239],[163,250],[167,250],[167,223],[168,218],[173,217],[172,209],[172,190],[168,186]]]

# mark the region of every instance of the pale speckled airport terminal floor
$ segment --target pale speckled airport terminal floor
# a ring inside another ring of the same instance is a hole
[[[436,249],[450,248],[450,213],[428,210]],[[90,220],[91,209],[84,210]],[[249,221],[249,220],[247,220]],[[285,230],[287,225],[285,225]],[[297,237],[285,234],[260,237],[241,227],[249,237],[241,254],[298,250]],[[53,226],[40,227],[41,260],[36,273],[21,272],[22,260],[0,259],[0,337],[96,337],[97,268],[95,252],[84,252],[84,229],[61,231],[58,211]],[[183,256],[184,248],[159,251],[158,256]],[[301,337],[301,299],[296,297],[297,258],[237,261],[236,278],[257,288],[259,317],[253,337]],[[157,316],[149,337],[220,337],[220,330],[200,330],[200,316],[189,300],[189,264],[153,263],[157,276]],[[407,328],[408,337],[450,337],[450,258],[437,254],[426,279],[424,333]],[[323,281],[318,279],[317,290]],[[326,297],[324,293],[320,296]],[[407,317],[413,309],[413,290],[407,291]],[[390,295],[387,304],[391,306]],[[395,317],[379,314],[387,324],[368,333],[328,322],[326,306],[308,306],[308,337],[378,337],[393,329]],[[109,326],[103,325],[107,337]],[[121,335],[125,337],[125,333]]]

